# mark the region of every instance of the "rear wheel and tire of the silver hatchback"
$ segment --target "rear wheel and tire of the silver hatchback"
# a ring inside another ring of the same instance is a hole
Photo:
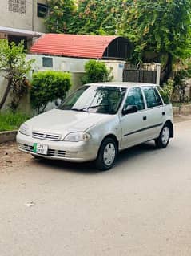
[[[169,144],[170,128],[169,124],[165,124],[161,129],[159,137],[155,140],[157,148],[166,148]]]

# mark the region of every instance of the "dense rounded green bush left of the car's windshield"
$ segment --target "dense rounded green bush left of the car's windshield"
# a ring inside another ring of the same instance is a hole
[[[44,112],[46,105],[54,100],[63,100],[70,89],[70,73],[40,71],[34,73],[30,89],[32,107]]]

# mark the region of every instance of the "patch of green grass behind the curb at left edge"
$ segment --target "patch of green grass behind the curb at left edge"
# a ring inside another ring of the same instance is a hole
[[[30,116],[23,113],[0,112],[0,132],[17,130]]]

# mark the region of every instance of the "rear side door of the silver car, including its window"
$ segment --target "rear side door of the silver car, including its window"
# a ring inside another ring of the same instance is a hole
[[[165,121],[165,110],[161,100],[161,96],[157,91],[157,87],[147,86],[141,87],[146,101],[146,119],[147,130],[145,130],[145,138],[153,140],[159,136],[161,128]]]

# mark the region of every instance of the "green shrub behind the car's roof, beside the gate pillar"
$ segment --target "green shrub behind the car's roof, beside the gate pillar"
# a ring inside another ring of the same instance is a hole
[[[111,69],[105,66],[105,63],[90,59],[85,64],[86,74],[82,77],[82,83],[109,82],[113,79]]]

